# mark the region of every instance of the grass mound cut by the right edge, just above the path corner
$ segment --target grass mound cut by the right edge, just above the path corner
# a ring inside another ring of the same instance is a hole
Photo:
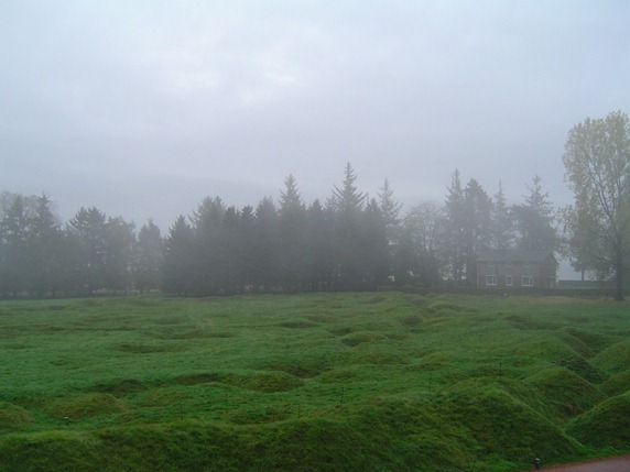
[[[609,398],[578,416],[567,428],[590,446],[630,448],[630,394]]]

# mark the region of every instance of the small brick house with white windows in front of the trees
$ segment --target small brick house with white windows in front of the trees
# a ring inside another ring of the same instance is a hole
[[[484,251],[477,259],[477,287],[555,288],[557,266],[553,251]]]

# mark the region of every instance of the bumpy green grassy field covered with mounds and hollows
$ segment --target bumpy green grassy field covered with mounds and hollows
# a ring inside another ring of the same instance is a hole
[[[630,451],[630,304],[0,303],[0,471],[517,471]]]

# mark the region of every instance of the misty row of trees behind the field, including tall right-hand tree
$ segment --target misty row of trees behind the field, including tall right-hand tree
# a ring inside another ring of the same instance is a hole
[[[558,209],[540,176],[520,204],[509,205],[500,184],[489,195],[455,171],[444,202],[424,201],[403,215],[387,178],[378,198],[369,198],[350,163],[325,201],[304,202],[289,175],[278,200],[237,208],[207,197],[165,235],[151,220],[137,230],[96,207],[62,224],[45,195],[3,193],[0,297],[476,285],[482,251],[517,248],[560,250],[575,268],[621,284],[630,248],[629,135],[620,112],[569,132],[564,161],[576,202]]]

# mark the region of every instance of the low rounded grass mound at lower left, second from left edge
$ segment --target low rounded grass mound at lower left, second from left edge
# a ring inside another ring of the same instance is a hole
[[[48,416],[55,418],[69,418],[75,420],[98,415],[127,413],[127,405],[113,395],[104,393],[89,393],[70,398],[62,398],[45,407]]]

